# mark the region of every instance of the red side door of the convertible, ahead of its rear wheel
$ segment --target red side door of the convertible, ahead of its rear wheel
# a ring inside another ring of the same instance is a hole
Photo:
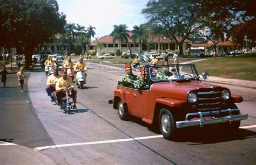
[[[130,113],[137,117],[149,114],[149,90],[130,89],[126,94]]]

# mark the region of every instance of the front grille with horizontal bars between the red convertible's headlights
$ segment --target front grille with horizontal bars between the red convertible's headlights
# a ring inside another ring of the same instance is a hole
[[[220,88],[205,88],[199,89],[198,96],[198,111],[214,111],[220,110],[223,103],[221,98]]]

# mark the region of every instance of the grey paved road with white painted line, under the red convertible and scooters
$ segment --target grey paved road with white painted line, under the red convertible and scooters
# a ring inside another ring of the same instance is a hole
[[[72,114],[64,114],[50,102],[43,72],[27,74],[28,88],[23,94],[16,88],[16,81],[10,83],[12,92],[8,94],[3,95],[6,89],[1,88],[4,113],[0,124],[4,129],[0,137],[14,138],[14,143],[34,148],[58,164],[256,163],[255,127],[240,128],[232,136],[219,130],[194,129],[179,141],[165,140],[156,127],[136,117],[120,120],[112,104],[107,103],[125,74],[123,65],[86,65],[87,83],[85,89],[77,89],[78,109]],[[241,126],[256,125],[255,90],[228,88],[244,96],[245,101],[237,105],[249,118],[241,121]],[[9,104],[17,106],[8,109]]]

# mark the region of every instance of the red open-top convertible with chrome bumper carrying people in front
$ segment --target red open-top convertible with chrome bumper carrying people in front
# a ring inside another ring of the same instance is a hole
[[[122,120],[129,115],[147,124],[157,124],[165,139],[176,139],[183,128],[212,125],[224,132],[237,131],[240,120],[247,119],[234,103],[242,97],[229,89],[204,82],[194,64],[146,66],[145,86],[119,81],[114,90],[113,109]],[[158,71],[169,70],[168,79],[157,78]],[[208,77],[207,73],[203,74]]]

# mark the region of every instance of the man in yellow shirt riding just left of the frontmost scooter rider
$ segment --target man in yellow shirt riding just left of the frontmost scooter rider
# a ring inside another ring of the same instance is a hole
[[[53,73],[47,79],[47,82],[46,82],[47,87],[45,88],[45,90],[47,92],[47,95],[51,97],[51,102],[54,102],[54,99],[51,94],[52,92],[56,91],[55,89],[56,82],[57,82],[57,79],[60,78],[61,76],[59,76],[57,68],[54,68],[52,72]]]

